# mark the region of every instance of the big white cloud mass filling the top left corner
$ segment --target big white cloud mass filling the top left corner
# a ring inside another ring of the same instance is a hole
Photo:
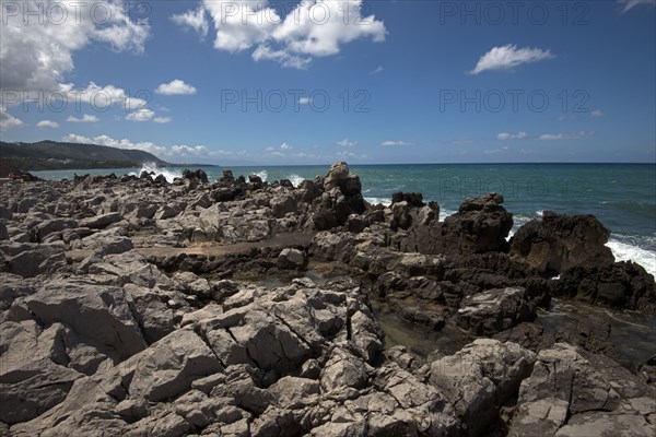
[[[107,43],[115,51],[143,52],[150,25],[148,21],[128,16],[122,0],[50,4],[43,1],[2,2],[0,88],[56,90],[58,83],[74,70],[73,54],[92,42]],[[38,16],[23,20],[25,11],[49,12],[47,19],[42,15],[42,20]]]

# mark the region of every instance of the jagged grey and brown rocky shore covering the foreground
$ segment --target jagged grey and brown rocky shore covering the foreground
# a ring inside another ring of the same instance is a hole
[[[0,436],[656,435],[656,347],[624,356],[604,311],[542,323],[655,311],[591,215],[508,238],[502,194],[440,222],[345,163],[0,188]]]

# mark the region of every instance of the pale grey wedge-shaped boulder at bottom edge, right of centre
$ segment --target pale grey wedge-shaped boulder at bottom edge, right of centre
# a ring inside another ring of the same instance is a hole
[[[514,343],[479,339],[431,364],[430,381],[443,390],[462,418],[466,434],[482,435],[499,409],[516,395],[536,354]]]

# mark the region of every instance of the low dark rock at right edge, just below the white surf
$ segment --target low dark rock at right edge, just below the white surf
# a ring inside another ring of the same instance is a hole
[[[554,296],[616,308],[656,310],[656,282],[631,261],[577,265],[552,283]]]

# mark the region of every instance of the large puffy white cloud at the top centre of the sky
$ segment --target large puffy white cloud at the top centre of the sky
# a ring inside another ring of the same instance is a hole
[[[207,14],[216,29],[214,48],[239,52],[255,47],[255,61],[272,60],[295,69],[306,69],[313,57],[337,55],[355,39],[385,40],[385,24],[374,15],[362,15],[363,0],[302,1],[286,14],[281,4],[203,0],[200,9],[172,20],[202,35],[209,27],[203,22]]]

